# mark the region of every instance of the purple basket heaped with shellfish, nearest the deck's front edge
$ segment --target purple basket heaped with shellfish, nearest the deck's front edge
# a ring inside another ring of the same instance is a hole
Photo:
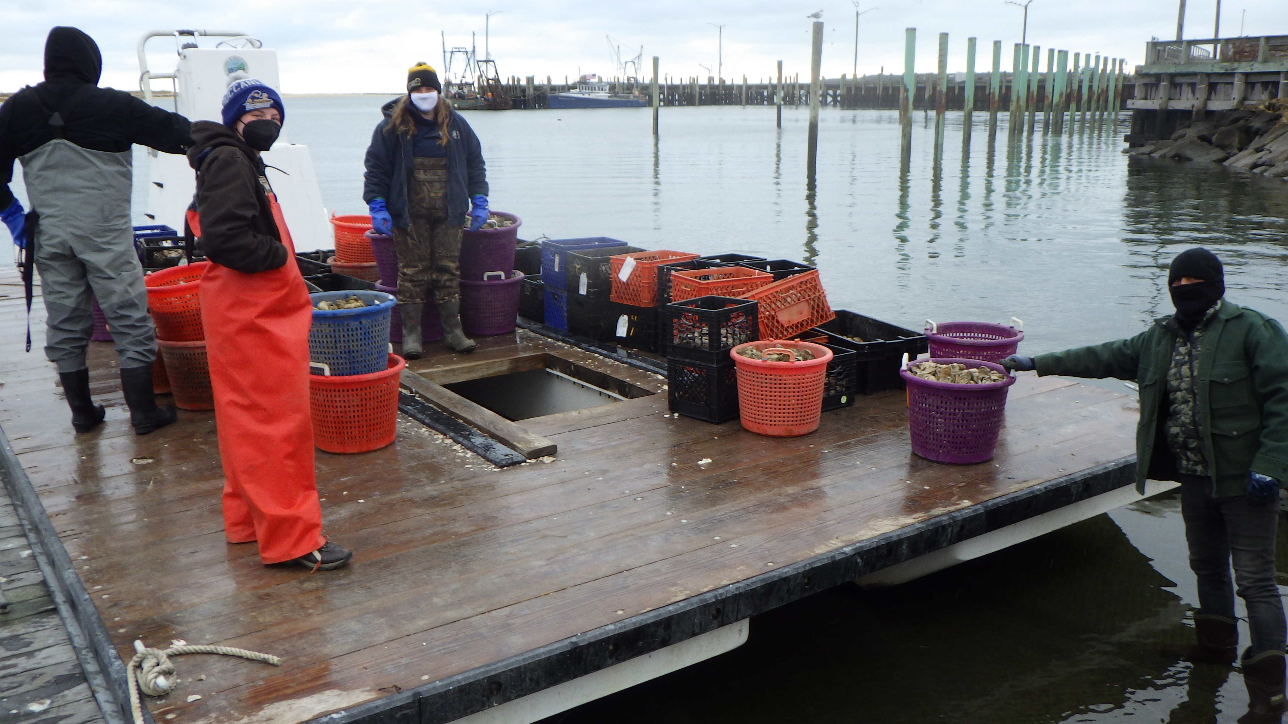
[[[1006,372],[1001,365],[979,359],[931,357],[930,361]],[[960,465],[993,457],[1006,417],[1006,390],[1015,384],[1015,377],[1001,383],[956,385],[923,380],[907,370],[899,370],[899,376],[908,386],[908,437],[912,438],[913,452],[935,462]]]

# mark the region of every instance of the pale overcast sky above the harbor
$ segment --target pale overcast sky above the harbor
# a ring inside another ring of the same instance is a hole
[[[148,30],[213,28],[243,31],[278,52],[286,93],[397,93],[416,61],[438,67],[442,40],[469,45],[477,32],[484,46],[484,13],[491,21],[491,52],[502,76],[613,75],[605,36],[621,43],[621,55],[644,49],[644,64],[661,57],[662,73],[707,76],[717,64],[717,30],[724,27],[724,76],[769,76],[774,62],[784,72],[809,76],[810,18],[823,10],[827,44],[823,73],[853,72],[854,5],[850,0],[808,0],[806,5],[769,0],[710,0],[612,4],[589,0],[484,0],[488,5],[419,0],[0,0],[0,91],[41,79],[45,33],[55,24],[89,32],[103,50],[103,85],[138,88],[135,44]],[[1189,0],[1185,37],[1211,37],[1216,0]],[[938,33],[949,33],[951,70],[965,67],[966,39],[976,36],[978,68],[990,63],[993,40],[1002,40],[1003,68],[1020,40],[1023,10],[1002,0],[863,0],[859,72],[902,72],[903,30],[916,27],[917,70],[933,71]],[[1150,36],[1176,33],[1176,0],[1032,0],[1029,43],[1070,52],[1101,53],[1141,62]],[[1221,35],[1288,33],[1288,0],[1225,0]],[[204,41],[202,45],[210,41]],[[157,39],[148,49],[153,71],[174,66],[174,41]],[[1043,53],[1045,57],[1045,53]],[[1045,61],[1043,61],[1045,63]]]

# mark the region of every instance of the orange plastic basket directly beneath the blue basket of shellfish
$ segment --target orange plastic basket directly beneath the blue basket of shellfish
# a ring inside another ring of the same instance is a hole
[[[370,452],[394,442],[398,376],[407,363],[389,356],[389,368],[368,375],[309,375],[313,444],[325,452]]]

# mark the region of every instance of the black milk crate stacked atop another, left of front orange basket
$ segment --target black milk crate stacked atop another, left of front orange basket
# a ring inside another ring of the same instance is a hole
[[[707,365],[733,362],[729,350],[760,339],[759,304],[733,296],[697,296],[662,307],[661,344],[667,357]]]

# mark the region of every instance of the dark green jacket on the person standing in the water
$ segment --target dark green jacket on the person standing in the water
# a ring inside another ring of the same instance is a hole
[[[1167,368],[1177,331],[1171,317],[1118,341],[1038,354],[1038,375],[1118,377],[1140,385],[1136,488],[1175,481],[1162,423]],[[1288,481],[1288,335],[1279,322],[1222,301],[1199,348],[1195,385],[1199,441],[1212,469],[1212,496],[1243,495],[1248,470]]]

